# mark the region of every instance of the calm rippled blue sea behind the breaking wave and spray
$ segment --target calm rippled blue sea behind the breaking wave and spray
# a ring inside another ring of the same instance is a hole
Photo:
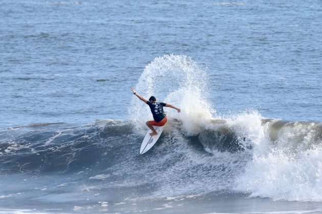
[[[127,119],[129,88],[170,53],[208,70],[220,114],[322,121],[319,1],[0,4],[2,127]]]

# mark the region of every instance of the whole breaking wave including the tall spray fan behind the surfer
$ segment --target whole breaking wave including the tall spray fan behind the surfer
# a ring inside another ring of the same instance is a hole
[[[129,121],[32,124],[0,131],[2,175],[76,177],[76,191],[124,197],[247,193],[274,200],[322,201],[322,124],[263,118],[249,110],[218,116],[206,70],[185,56],[156,58],[137,92],[175,104],[158,143],[140,146],[150,110],[131,100]]]

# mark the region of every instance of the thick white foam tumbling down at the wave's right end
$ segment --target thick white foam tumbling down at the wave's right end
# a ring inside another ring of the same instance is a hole
[[[267,124],[259,133],[263,140],[254,141],[252,158],[236,179],[234,189],[274,200],[322,201],[319,125],[281,121]]]

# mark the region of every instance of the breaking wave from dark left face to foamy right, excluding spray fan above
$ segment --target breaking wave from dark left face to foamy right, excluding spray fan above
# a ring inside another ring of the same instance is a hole
[[[100,188],[149,184],[154,188],[145,191],[155,196],[169,190],[174,196],[237,191],[321,201],[320,123],[266,119],[253,112],[213,118],[199,130],[187,135],[183,122],[170,118],[158,143],[140,155],[144,136],[131,121],[8,128],[0,133],[1,173],[73,173]]]

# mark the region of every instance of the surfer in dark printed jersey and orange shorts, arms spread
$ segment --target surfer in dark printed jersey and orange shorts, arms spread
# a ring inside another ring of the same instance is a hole
[[[154,120],[150,120],[150,121],[146,122],[147,126],[152,130],[152,132],[150,133],[150,136],[157,135],[157,132],[153,126],[164,126],[166,124],[166,122],[168,121],[167,116],[166,116],[165,112],[163,111],[164,106],[175,109],[178,111],[178,113],[180,113],[180,109],[176,108],[176,106],[174,106],[174,105],[167,104],[164,102],[157,102],[156,98],[154,96],[151,96],[150,99],[147,100],[144,97],[137,94],[135,92],[134,88],[131,88],[131,90],[135,96],[137,96],[143,102],[148,104],[151,109],[151,113],[153,115]]]

